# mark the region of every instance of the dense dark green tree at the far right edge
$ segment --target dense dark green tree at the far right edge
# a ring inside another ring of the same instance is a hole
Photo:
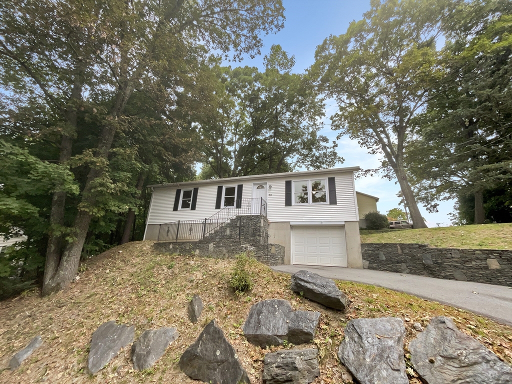
[[[408,157],[426,204],[458,198],[467,206],[473,196],[474,217],[461,209],[460,222],[483,223],[484,195],[512,182],[512,6],[499,5],[461,5],[462,26],[451,26],[455,36],[443,50],[443,77],[431,91]]]

